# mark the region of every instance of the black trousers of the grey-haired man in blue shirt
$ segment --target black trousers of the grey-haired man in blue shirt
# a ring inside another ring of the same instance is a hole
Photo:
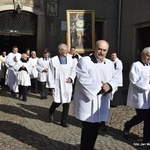
[[[53,102],[50,109],[49,109],[49,113],[50,114],[54,114],[54,111],[57,107],[59,107],[61,105],[61,103],[55,103]],[[63,112],[61,115],[61,122],[62,123],[66,123],[67,122],[67,118],[68,118],[68,111],[69,111],[69,103],[64,103],[62,104],[63,106]]]

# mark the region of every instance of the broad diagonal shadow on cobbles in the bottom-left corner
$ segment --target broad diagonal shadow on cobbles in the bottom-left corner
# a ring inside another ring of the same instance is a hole
[[[8,121],[0,121],[0,132],[38,150],[75,150],[77,148],[71,144],[49,139],[47,136]]]

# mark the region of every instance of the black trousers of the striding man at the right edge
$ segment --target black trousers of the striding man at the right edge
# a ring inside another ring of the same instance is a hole
[[[136,109],[136,115],[127,121],[125,126],[130,130],[133,126],[144,121],[143,127],[143,141],[150,140],[150,109]]]

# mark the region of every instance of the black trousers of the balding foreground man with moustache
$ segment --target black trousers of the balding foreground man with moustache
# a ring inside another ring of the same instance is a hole
[[[80,150],[93,150],[100,123],[82,121],[82,125]]]

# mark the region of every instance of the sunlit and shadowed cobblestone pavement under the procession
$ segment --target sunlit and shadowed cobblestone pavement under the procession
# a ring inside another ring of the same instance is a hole
[[[55,113],[56,123],[50,123],[48,109],[52,103],[49,95],[41,100],[39,94],[29,94],[27,102],[12,97],[7,89],[0,90],[0,150],[79,150],[81,122],[69,111],[68,128],[61,127],[62,107]],[[107,131],[99,131],[96,150],[150,149],[142,143],[142,127],[132,128],[130,139],[123,138],[123,125],[135,114],[127,106],[111,108]]]

